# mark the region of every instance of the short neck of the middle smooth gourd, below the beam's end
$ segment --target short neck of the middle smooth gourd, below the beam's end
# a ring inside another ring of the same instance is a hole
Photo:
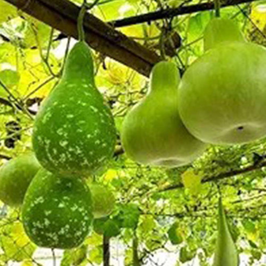
[[[151,71],[148,93],[177,92],[179,82],[180,75],[175,63],[161,61]]]

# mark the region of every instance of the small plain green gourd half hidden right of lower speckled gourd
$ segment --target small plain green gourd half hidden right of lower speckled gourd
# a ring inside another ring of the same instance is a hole
[[[92,214],[94,219],[108,216],[114,209],[115,198],[105,186],[92,183],[89,185],[92,198]]]

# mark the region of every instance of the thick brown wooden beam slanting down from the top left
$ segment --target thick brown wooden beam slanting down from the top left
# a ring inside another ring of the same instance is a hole
[[[68,0],[5,0],[68,36],[77,38],[80,7]],[[92,14],[84,17],[85,39],[96,51],[149,76],[159,55]]]

